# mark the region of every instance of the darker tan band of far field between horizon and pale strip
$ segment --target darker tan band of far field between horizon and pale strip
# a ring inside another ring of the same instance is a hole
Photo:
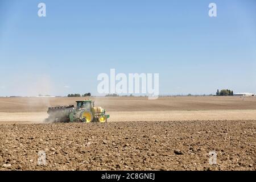
[[[47,111],[55,105],[75,104],[84,98],[0,98],[0,111]],[[256,109],[256,97],[92,97],[96,106],[107,111],[154,111],[154,110],[245,110]]]

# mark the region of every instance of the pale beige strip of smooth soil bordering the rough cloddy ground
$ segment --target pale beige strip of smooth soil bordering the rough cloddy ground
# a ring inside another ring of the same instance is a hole
[[[193,121],[193,120],[251,120],[256,110],[196,110],[196,111],[108,111],[108,122],[122,121]],[[0,124],[43,123],[48,117],[40,112],[0,112]]]

